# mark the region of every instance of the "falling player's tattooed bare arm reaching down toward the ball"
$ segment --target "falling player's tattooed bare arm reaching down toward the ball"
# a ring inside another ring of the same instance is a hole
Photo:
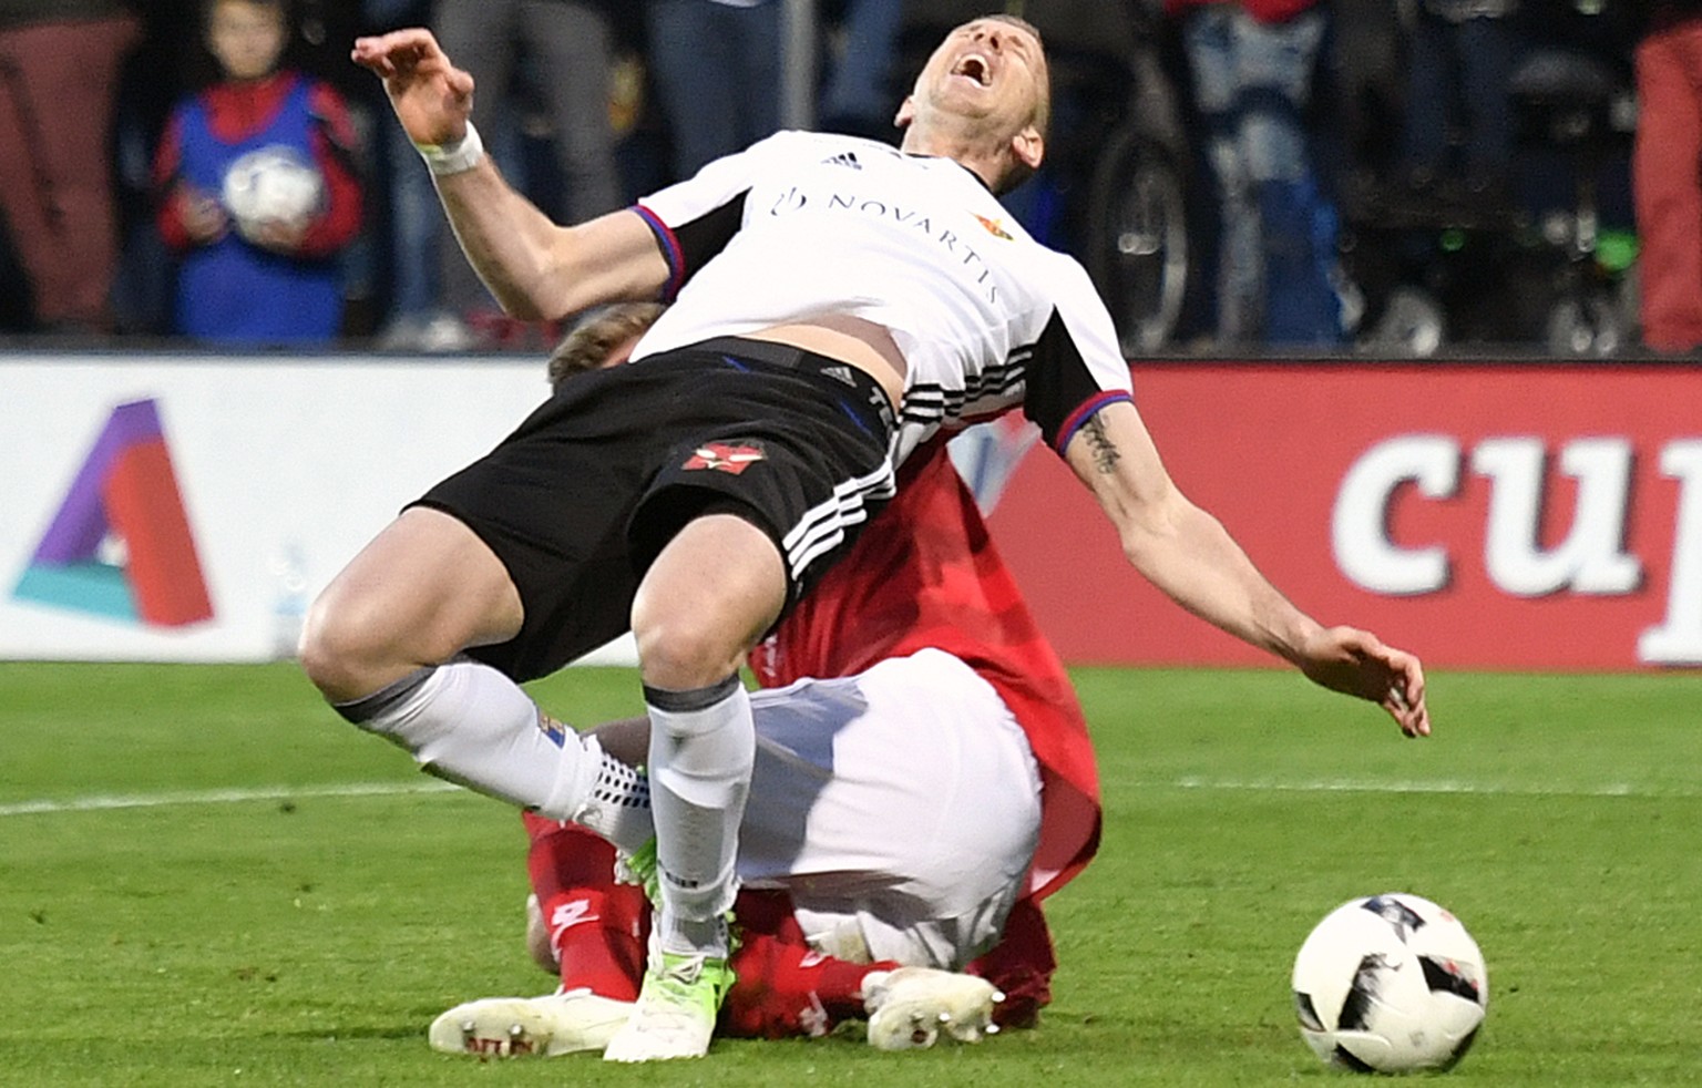
[[[1117,526],[1128,562],[1171,599],[1316,683],[1384,707],[1401,732],[1430,732],[1418,659],[1368,632],[1326,628],[1295,608],[1229,531],[1176,489],[1132,404],[1096,412],[1064,455]]]

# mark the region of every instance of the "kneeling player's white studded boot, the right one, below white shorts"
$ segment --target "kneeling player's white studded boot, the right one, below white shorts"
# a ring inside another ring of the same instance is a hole
[[[877,1051],[921,1051],[940,1034],[957,1042],[980,1042],[997,1034],[992,1006],[1004,999],[985,979],[933,967],[878,971],[863,981],[868,1045]]]

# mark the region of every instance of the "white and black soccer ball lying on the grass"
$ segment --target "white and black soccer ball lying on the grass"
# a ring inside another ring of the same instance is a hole
[[[1488,1005],[1477,942],[1459,918],[1406,892],[1341,904],[1294,960],[1300,1035],[1356,1073],[1454,1068]]]

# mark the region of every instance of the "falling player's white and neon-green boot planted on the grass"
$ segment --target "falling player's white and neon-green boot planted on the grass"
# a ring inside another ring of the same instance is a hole
[[[652,952],[638,1005],[609,1040],[604,1061],[703,1057],[732,984],[734,972],[725,959]]]

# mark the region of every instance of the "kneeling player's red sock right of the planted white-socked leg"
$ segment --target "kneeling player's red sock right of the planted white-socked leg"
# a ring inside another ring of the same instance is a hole
[[[737,981],[722,1010],[728,1035],[825,1035],[841,1020],[865,1015],[865,976],[897,967],[848,964],[812,950],[785,892],[740,892],[734,918],[740,943],[732,962]]]

